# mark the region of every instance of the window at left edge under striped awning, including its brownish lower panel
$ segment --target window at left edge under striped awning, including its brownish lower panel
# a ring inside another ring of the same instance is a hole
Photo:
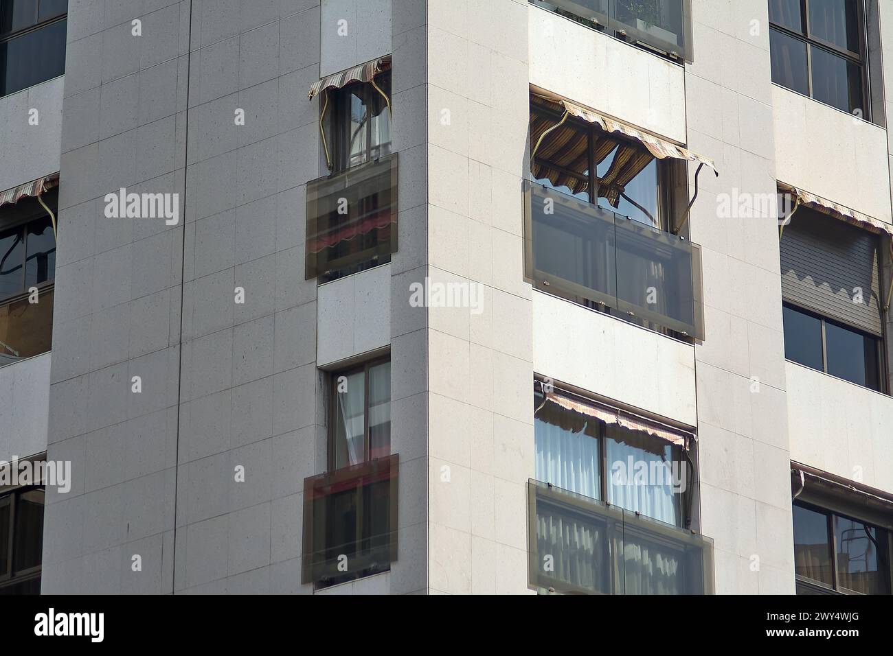
[[[42,196],[54,212],[58,190]],[[50,350],[55,235],[36,198],[0,207],[0,366]]]

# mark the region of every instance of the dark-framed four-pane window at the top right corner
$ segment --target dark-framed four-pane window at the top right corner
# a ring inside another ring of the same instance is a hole
[[[769,21],[773,82],[872,120],[862,0],[770,0]]]

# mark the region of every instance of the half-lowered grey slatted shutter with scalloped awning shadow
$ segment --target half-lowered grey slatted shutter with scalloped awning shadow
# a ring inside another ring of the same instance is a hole
[[[881,336],[876,236],[801,207],[782,232],[780,252],[786,301]],[[862,303],[855,303],[857,289]]]

